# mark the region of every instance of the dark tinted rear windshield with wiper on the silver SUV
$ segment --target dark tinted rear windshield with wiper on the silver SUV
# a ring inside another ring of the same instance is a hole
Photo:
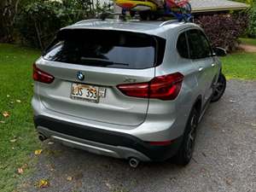
[[[142,33],[69,29],[59,32],[44,59],[84,66],[143,69],[162,61],[163,54],[158,55],[157,48],[160,44],[164,49],[163,41]]]

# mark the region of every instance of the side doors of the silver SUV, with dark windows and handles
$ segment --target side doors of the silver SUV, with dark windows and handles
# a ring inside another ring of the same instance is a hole
[[[207,37],[200,29],[187,31],[189,55],[197,69],[197,81],[201,89],[203,104],[212,96],[212,82],[215,78],[215,64],[212,58],[212,48]]]

